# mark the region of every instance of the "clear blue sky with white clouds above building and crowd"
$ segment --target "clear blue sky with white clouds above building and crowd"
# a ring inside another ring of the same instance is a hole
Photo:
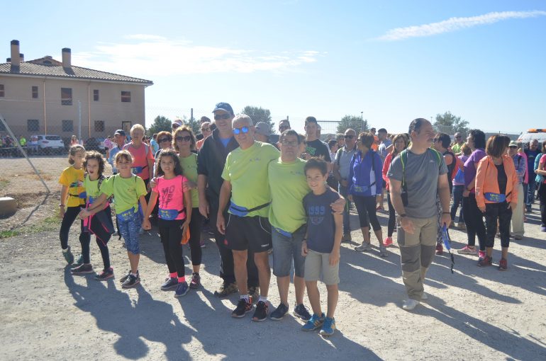
[[[225,101],[296,130],[362,115],[406,132],[446,111],[486,132],[546,128],[546,1],[154,3],[6,2],[0,59],[16,39],[26,60],[69,47],[73,65],[151,80],[147,125]]]

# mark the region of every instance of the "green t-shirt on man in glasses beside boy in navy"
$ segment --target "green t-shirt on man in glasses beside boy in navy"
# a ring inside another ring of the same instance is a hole
[[[305,164],[306,161],[300,158],[292,163],[282,163],[280,158],[269,163],[268,178],[272,197],[269,223],[289,233],[307,222],[303,197],[311,190],[303,170]]]

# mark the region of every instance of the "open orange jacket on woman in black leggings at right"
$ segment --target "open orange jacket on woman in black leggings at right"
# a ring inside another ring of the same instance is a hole
[[[503,155],[504,171],[506,173],[506,202],[518,201],[518,175],[514,167],[514,161],[507,154]],[[500,193],[498,190],[497,170],[491,156],[484,156],[479,161],[476,173],[476,202],[478,207],[485,207],[486,200],[484,193]]]

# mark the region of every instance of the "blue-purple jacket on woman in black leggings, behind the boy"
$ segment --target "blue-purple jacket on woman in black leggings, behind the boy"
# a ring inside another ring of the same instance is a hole
[[[373,167],[372,161],[374,162]],[[383,188],[382,169],[381,157],[375,151],[369,149],[364,158],[362,158],[362,151],[357,151],[352,156],[349,168],[349,184],[347,185],[349,193],[362,196],[381,194],[381,189]],[[364,192],[358,191],[359,189],[363,189]]]

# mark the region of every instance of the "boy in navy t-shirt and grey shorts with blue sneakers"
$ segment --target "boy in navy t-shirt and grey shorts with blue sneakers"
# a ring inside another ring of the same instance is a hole
[[[307,214],[307,234],[301,243],[301,254],[306,258],[304,277],[313,316],[301,329],[315,331],[321,328],[321,335],[330,336],[335,331],[334,311],[338,304],[343,216],[332,214],[330,210],[330,205],[339,195],[326,185],[328,164],[322,159],[312,158],[307,161],[304,169],[311,193],[303,197],[303,207]],[[321,295],[317,287],[321,273],[328,290],[326,316],[321,310]]]

